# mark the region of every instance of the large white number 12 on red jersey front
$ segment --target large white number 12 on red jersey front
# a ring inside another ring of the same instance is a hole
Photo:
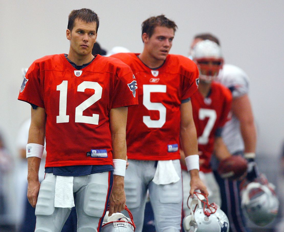
[[[67,107],[67,87],[68,81],[62,81],[60,85],[57,85],[56,90],[60,91],[59,95],[59,115],[56,116],[56,122],[69,122],[69,115],[66,115]],[[85,89],[94,89],[95,93],[83,101],[75,109],[75,122],[83,122],[89,124],[99,124],[99,114],[93,114],[93,116],[84,116],[83,111],[94,104],[97,100],[101,99],[103,88],[97,82],[83,81],[77,87],[77,92],[85,92]]]

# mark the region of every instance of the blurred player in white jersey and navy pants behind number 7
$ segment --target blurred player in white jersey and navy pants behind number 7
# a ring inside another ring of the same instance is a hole
[[[219,40],[215,36],[211,34],[199,34],[195,36],[191,43],[191,49],[202,40],[212,40],[220,45]],[[257,177],[258,171],[254,162],[256,129],[248,97],[249,78],[239,67],[224,64],[219,72],[217,81],[228,87],[233,95],[232,118],[225,124],[222,137],[231,154],[244,154],[245,158],[249,161],[247,179],[252,181]],[[212,168],[216,170],[217,165],[213,163],[214,161],[212,161]],[[217,171],[214,171],[214,175],[221,190],[221,209],[229,218],[230,231],[250,231],[245,225],[245,218],[241,211],[239,181],[222,179]]]

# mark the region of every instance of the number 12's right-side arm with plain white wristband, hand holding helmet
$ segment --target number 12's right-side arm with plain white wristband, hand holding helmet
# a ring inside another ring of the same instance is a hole
[[[114,160],[113,188],[109,200],[109,216],[125,208],[124,175],[126,168],[126,121],[127,107],[110,110],[112,156]],[[124,162],[125,161],[125,162]]]

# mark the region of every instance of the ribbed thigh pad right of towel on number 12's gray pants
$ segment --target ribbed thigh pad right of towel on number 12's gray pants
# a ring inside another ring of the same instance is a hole
[[[97,183],[89,184],[85,194],[83,212],[89,217],[102,217],[105,210],[107,194],[107,185]]]

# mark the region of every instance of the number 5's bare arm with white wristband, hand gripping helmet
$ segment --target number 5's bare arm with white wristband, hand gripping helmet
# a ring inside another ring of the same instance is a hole
[[[193,196],[193,192],[199,189],[201,192],[208,195],[208,191],[205,185],[202,183],[201,179],[199,178],[199,156],[197,155],[198,154],[197,134],[192,116],[191,101],[182,103],[180,106],[180,111],[181,111],[180,141],[183,147],[187,169],[189,170],[191,178],[189,193],[191,196]],[[189,157],[191,155],[194,156]],[[193,157],[194,159],[191,159]],[[188,162],[187,160],[190,162]],[[190,167],[188,166],[188,164]]]

